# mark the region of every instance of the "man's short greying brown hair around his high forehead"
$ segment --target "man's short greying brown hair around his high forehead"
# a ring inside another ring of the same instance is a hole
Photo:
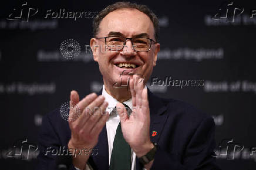
[[[93,19],[93,36],[96,37],[99,33],[99,25],[102,19],[109,14],[112,11],[115,11],[116,9],[122,9],[122,8],[130,8],[130,9],[137,9],[143,13],[145,13],[154,25],[154,38],[158,42],[159,38],[159,21],[157,19],[157,16],[146,6],[146,5],[139,5],[139,4],[132,4],[130,2],[116,2],[112,5],[107,6],[105,9],[100,11],[96,18]]]

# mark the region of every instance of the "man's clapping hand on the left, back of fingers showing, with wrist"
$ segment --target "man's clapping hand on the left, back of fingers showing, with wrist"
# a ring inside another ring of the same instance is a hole
[[[75,90],[70,93],[69,127],[71,139],[68,144],[69,149],[89,149],[97,144],[99,134],[109,118],[109,113],[105,113],[108,103],[105,97],[91,93],[79,101],[79,94]],[[83,169],[89,159],[90,152],[80,152],[73,155],[73,165]]]

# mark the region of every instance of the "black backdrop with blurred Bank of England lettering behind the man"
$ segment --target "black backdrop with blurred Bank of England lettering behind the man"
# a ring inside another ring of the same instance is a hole
[[[27,143],[36,145],[43,115],[68,101],[70,90],[78,90],[83,95],[100,90],[102,77],[86,46],[92,38],[92,18],[113,2],[1,2],[1,169],[33,169],[37,152],[31,152],[28,159],[26,155],[14,156],[14,152],[10,154],[15,150],[14,143],[26,139]],[[255,169],[256,152],[251,149],[256,147],[256,14],[250,16],[256,10],[256,2],[139,3],[148,5],[160,19],[160,52],[151,77],[204,82],[203,86],[182,89],[150,86],[150,81],[147,86],[161,97],[186,101],[214,117],[217,145],[225,140],[221,146],[224,149],[229,146],[228,154],[233,151],[232,145],[239,146],[234,157],[220,154],[216,148],[221,168]],[[21,9],[22,18],[14,18]],[[90,14],[76,20],[72,15],[45,18],[48,10],[58,12],[60,9]],[[212,17],[216,13],[220,15]],[[60,54],[60,44],[68,39],[80,45],[80,55],[73,60],[66,60]],[[233,142],[227,144],[231,139]],[[23,152],[26,151],[28,148],[24,147]]]

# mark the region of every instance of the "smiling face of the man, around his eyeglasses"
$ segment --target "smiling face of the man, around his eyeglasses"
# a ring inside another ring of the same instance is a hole
[[[134,38],[142,35],[145,38],[154,39],[154,26],[150,18],[137,9],[118,9],[110,12],[102,19],[99,25],[97,38],[106,36],[122,36]],[[114,84],[120,81],[120,74],[124,70],[133,70],[134,74],[143,75],[147,81],[156,66],[159,43],[152,42],[148,52],[136,52],[132,47],[131,40],[126,40],[126,46],[122,50],[114,51],[106,49],[105,39],[91,39],[90,45],[94,47],[93,58],[99,63],[104,83]],[[135,64],[136,68],[130,66],[122,67],[122,63]],[[130,72],[130,71],[129,71]],[[131,76],[122,76],[122,84],[127,82]],[[146,82],[144,81],[144,82]]]

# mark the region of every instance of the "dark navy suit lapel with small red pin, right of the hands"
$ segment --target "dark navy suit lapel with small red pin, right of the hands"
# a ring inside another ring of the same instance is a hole
[[[166,106],[161,99],[151,93],[149,89],[147,89],[147,92],[150,109],[150,140],[151,142],[157,143],[167,119],[167,114],[164,114]],[[139,170],[142,168],[143,165],[140,164],[139,159],[136,158],[136,169]]]

